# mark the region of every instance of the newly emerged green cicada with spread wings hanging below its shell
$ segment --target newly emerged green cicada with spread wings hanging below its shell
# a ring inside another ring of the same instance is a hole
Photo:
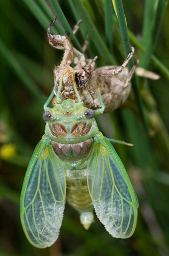
[[[77,99],[60,97],[63,79],[72,79]],[[45,134],[35,148],[23,182],[20,215],[27,239],[36,247],[52,245],[59,236],[65,202],[80,213],[88,229],[93,209],[115,238],[132,236],[138,201],[114,147],[99,132],[95,116],[105,106],[98,83],[101,108],[89,109],[77,91],[70,69],[59,79],[56,105],[44,105]],[[76,79],[76,80],[75,80]]]

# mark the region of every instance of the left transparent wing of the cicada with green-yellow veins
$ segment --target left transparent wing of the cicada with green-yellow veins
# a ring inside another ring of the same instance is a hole
[[[62,224],[65,208],[64,169],[52,145],[43,138],[27,168],[20,199],[20,216],[27,239],[36,247],[53,244]]]

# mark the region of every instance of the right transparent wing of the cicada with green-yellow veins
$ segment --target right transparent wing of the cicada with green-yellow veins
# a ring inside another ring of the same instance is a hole
[[[88,162],[88,186],[99,220],[112,237],[129,238],[137,221],[137,198],[114,147],[103,136]],[[104,145],[104,146],[103,146]]]

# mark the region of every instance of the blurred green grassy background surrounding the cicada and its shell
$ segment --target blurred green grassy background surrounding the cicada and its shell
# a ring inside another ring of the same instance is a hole
[[[134,144],[114,146],[140,203],[136,230],[129,239],[112,238],[95,216],[87,231],[66,204],[58,241],[38,249],[23,233],[19,197],[27,164],[44,134],[42,96],[50,95],[52,69],[63,56],[48,44],[47,26],[57,14],[60,22],[53,33],[67,30],[71,35],[70,28],[82,18],[71,41],[80,49],[90,33],[86,54],[98,56],[97,67],[123,63],[128,45],[121,33],[126,31],[120,30],[110,0],[0,1],[0,256],[169,255],[169,5],[164,0],[123,0],[123,7],[134,60],[160,75],[159,80],[133,79],[134,90],[122,108],[97,118],[105,136]]]

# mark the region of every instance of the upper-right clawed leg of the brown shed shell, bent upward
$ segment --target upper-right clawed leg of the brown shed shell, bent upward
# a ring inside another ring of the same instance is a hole
[[[100,76],[116,76],[116,75],[118,75],[127,66],[128,62],[132,58],[133,54],[134,54],[134,47],[131,47],[131,52],[129,53],[129,55],[127,56],[126,60],[124,61],[124,63],[122,64],[122,66],[120,68],[114,69],[114,70],[101,70],[99,72],[99,75]]]

